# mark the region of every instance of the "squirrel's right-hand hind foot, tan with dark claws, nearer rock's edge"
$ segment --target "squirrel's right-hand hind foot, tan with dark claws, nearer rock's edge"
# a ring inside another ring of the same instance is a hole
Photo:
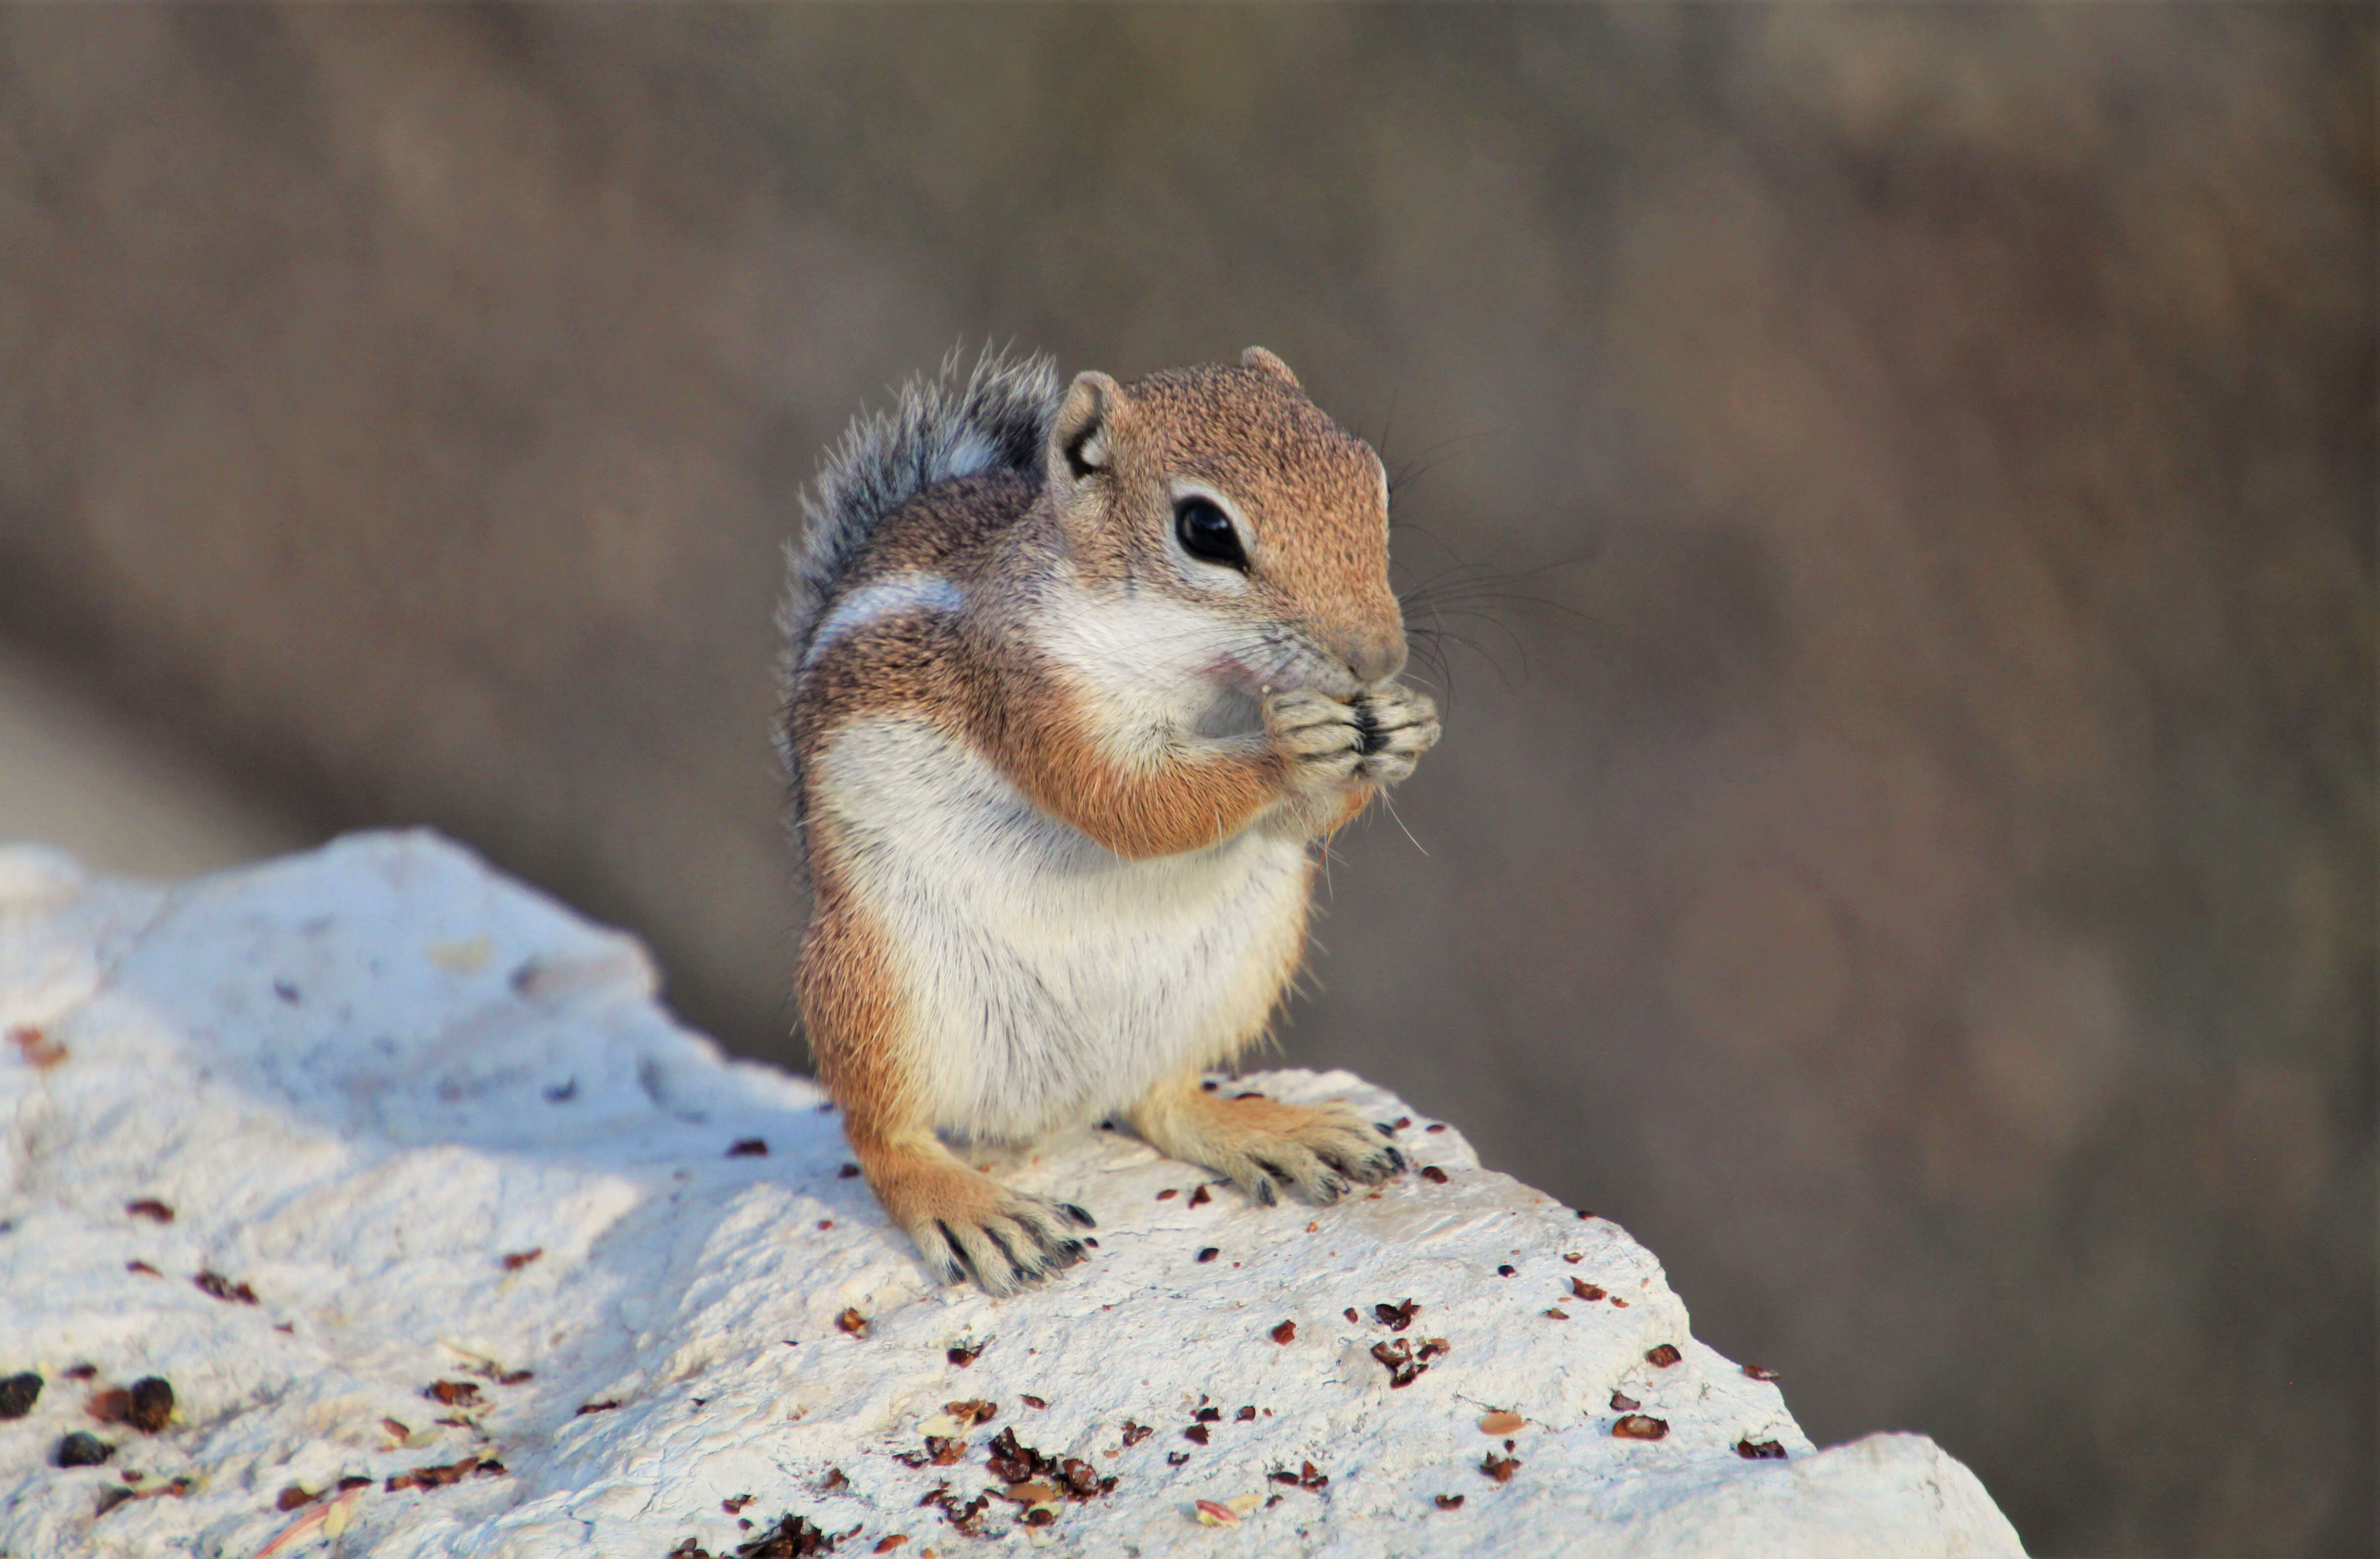
[[[1404,1154],[1345,1104],[1204,1092],[1197,1073],[1150,1090],[1126,1121],[1157,1152],[1228,1176],[1264,1207],[1280,1200],[1283,1185],[1328,1204],[1352,1185],[1378,1185],[1404,1171]]]

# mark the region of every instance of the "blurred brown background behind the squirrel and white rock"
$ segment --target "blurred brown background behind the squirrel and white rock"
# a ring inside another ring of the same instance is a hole
[[[178,795],[224,850],[428,821],[793,1059],[816,452],[954,343],[1266,343],[1428,467],[1414,624],[1476,645],[1288,1054],[1621,1219],[1814,1435],[1937,1435],[2035,1552],[2368,1554],[2373,45],[5,10],[10,685],[140,728],[76,750],[138,802],[45,793],[102,857]]]

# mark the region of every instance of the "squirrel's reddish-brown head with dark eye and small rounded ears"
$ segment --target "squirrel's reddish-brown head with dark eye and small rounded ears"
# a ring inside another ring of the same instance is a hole
[[[1404,666],[1388,471],[1290,367],[1078,374],[1042,455],[1078,578],[1150,600],[1164,659],[1347,697]],[[1202,628],[1178,628],[1183,609]]]

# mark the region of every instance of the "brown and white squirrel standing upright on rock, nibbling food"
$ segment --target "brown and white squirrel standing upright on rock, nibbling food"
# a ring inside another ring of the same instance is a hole
[[[1404,1169],[1345,1107],[1200,1088],[1304,957],[1316,840],[1414,769],[1388,474],[1271,352],[1123,386],[985,357],[862,417],[804,497],[783,755],[797,990],[869,1185],[942,1281],[1083,1257],[962,1164],[1121,1119],[1330,1202]]]

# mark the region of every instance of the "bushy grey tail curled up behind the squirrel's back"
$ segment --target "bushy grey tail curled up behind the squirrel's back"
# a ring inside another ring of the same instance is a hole
[[[802,543],[785,550],[785,664],[802,664],[819,607],[885,514],[952,476],[1038,474],[1057,400],[1050,357],[985,348],[964,381],[952,352],[940,374],[904,383],[890,409],[857,417],[802,493]]]

